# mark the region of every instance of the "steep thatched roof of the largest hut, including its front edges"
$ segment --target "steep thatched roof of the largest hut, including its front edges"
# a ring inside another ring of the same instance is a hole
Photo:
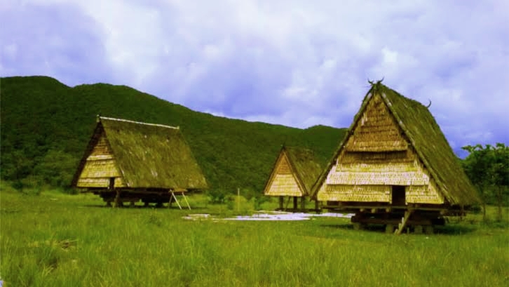
[[[445,199],[452,205],[466,206],[480,202],[475,188],[468,180],[459,159],[454,154],[428,107],[415,100],[405,98],[398,92],[381,84],[381,81],[372,84],[362,101],[348,134],[341,141],[337,152],[313,187],[313,198],[316,197],[316,193],[327,178],[330,169],[334,166],[345,143],[351,137],[353,128],[357,126],[358,121],[362,118],[367,103],[375,94],[381,95],[391,116],[401,128],[405,138],[412,145],[423,165],[430,172],[431,177],[437,182],[439,192],[442,193]]]

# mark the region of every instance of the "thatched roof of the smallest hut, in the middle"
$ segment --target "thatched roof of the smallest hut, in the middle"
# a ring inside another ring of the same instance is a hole
[[[283,146],[280,150],[278,159],[274,163],[269,180],[265,185],[264,193],[270,187],[274,176],[277,173],[278,163],[285,157],[290,165],[290,171],[294,175],[295,180],[302,190],[304,195],[310,195],[313,185],[320,175],[322,168],[320,164],[315,161],[313,151],[304,149],[302,147],[286,147]]]

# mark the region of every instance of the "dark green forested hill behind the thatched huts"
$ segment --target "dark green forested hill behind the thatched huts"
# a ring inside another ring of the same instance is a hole
[[[194,112],[127,86],[65,86],[46,76],[0,78],[0,173],[19,187],[69,185],[96,115],[180,126],[212,189],[262,191],[285,142],[325,163],[345,129],[307,129]]]

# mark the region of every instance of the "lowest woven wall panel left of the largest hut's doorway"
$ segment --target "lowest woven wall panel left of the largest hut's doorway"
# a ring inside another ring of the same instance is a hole
[[[327,185],[325,192],[318,193],[320,201],[391,201],[391,186],[388,185]]]

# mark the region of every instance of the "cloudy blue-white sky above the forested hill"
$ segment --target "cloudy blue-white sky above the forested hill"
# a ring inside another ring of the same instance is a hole
[[[509,1],[1,0],[0,76],[126,85],[200,112],[351,125],[369,80],[449,144],[509,145]]]

